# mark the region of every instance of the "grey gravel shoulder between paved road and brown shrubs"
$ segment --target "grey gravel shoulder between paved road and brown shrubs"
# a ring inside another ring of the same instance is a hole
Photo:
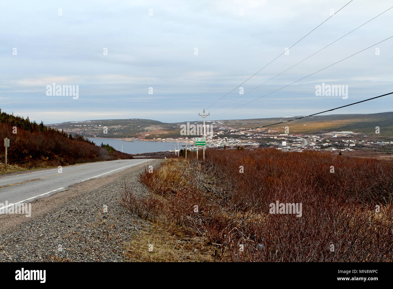
[[[124,247],[148,221],[118,203],[124,180],[147,193],[137,175],[151,160],[76,184],[31,203],[31,217],[0,215],[0,261],[123,261]]]

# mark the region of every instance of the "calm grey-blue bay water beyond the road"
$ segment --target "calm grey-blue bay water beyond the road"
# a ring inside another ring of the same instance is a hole
[[[134,140],[133,142],[126,142],[124,140],[116,140],[112,138],[87,138],[92,140],[96,145],[100,146],[101,143],[109,144],[118,151],[121,151],[121,145],[123,145],[123,152],[136,154],[136,153],[155,153],[157,151],[170,151],[174,150],[175,145],[177,149],[177,142],[160,142],[160,141],[144,141]],[[182,149],[182,143],[179,142],[179,149]]]

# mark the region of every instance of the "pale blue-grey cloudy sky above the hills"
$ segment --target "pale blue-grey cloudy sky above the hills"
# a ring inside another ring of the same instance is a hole
[[[3,1],[0,109],[46,124],[180,122],[202,120],[203,109],[206,120],[302,116],[393,92],[393,38],[373,46],[393,36],[393,1],[338,11],[348,2]],[[53,83],[77,87],[77,98],[51,95]],[[317,96],[323,83],[347,95]],[[393,111],[392,100],[325,114]]]

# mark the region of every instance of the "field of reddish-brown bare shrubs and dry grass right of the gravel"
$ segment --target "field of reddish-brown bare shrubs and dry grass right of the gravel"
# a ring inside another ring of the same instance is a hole
[[[139,180],[152,195],[126,190],[123,205],[203,237],[221,261],[393,260],[391,163],[271,149],[206,155],[145,169]],[[302,203],[302,216],[269,214],[276,201]]]

